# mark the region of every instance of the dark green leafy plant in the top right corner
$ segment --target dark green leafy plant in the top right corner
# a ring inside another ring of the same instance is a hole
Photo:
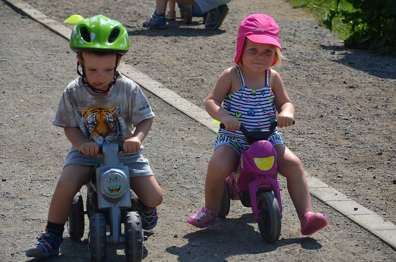
[[[348,47],[396,55],[396,0],[343,0],[352,10],[340,8],[341,1],[334,1],[324,27],[332,30],[333,19],[341,17],[350,33],[345,40]]]

